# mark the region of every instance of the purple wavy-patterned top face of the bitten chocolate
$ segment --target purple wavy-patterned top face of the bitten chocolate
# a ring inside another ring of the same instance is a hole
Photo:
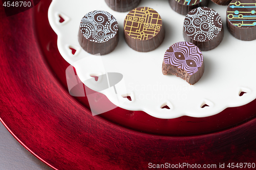
[[[184,69],[189,75],[193,75],[202,66],[203,55],[193,43],[177,42],[165,52],[164,63]]]

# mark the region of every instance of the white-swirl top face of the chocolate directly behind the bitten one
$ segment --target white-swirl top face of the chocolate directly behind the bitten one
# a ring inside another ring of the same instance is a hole
[[[222,20],[216,11],[207,7],[198,7],[186,15],[183,27],[190,38],[205,42],[219,34]]]

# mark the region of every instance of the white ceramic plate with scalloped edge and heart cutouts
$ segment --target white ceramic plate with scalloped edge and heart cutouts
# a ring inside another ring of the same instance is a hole
[[[203,52],[205,71],[195,84],[173,75],[162,74],[163,55],[167,48],[184,41],[185,16],[174,12],[168,1],[142,0],[139,7],[155,9],[162,17],[165,39],[154,51],[139,53],[132,50],[123,38],[123,21],[128,12],[110,9],[104,0],[54,0],[49,8],[51,27],[58,35],[58,49],[62,57],[76,68],[78,77],[89,88],[98,90],[98,82],[87,81],[91,76],[105,72],[119,72],[121,82],[100,91],[116,106],[127,110],[142,110],[158,118],[176,118],[183,115],[206,117],[217,114],[227,107],[245,105],[256,98],[256,41],[241,41],[230,35],[226,28],[226,8],[212,2],[210,8],[217,11],[224,25],[224,38],[214,50]],[[93,56],[83,51],[78,42],[81,18],[94,10],[108,11],[119,24],[119,43],[115,50],[104,56]],[[59,22],[59,15],[65,19]],[[70,47],[76,53],[71,53]],[[246,92],[239,96],[240,92]],[[130,95],[132,101],[123,98]],[[201,108],[204,104],[209,107]],[[161,107],[168,105],[170,109]],[[100,107],[100,106],[99,106]],[[240,113],[242,114],[242,113]]]

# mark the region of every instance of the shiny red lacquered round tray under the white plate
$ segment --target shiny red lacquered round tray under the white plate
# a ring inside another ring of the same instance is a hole
[[[10,17],[0,11],[0,118],[36,157],[56,169],[256,163],[255,100],[204,118],[159,119],[121,108],[92,116],[87,98],[68,92],[69,64],[48,22],[50,3]]]

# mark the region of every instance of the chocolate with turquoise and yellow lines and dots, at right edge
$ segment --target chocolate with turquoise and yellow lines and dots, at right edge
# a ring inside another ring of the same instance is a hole
[[[237,39],[256,39],[256,0],[233,0],[227,7],[227,28]]]

